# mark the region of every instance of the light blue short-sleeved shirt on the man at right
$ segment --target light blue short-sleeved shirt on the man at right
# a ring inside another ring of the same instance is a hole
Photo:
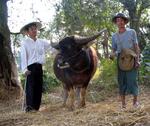
[[[112,35],[112,48],[116,53],[120,53],[123,48],[134,48],[138,43],[137,34],[134,29],[127,28],[123,33],[114,33]]]

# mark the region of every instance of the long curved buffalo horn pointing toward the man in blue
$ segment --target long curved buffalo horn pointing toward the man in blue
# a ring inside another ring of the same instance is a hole
[[[74,39],[75,39],[75,42],[76,43],[79,43],[79,44],[86,44],[90,41],[93,41],[95,40],[97,37],[99,37],[103,32],[105,32],[107,29],[103,29],[101,30],[100,32],[98,32],[97,34],[91,36],[91,37],[80,37],[80,36],[75,36]]]

